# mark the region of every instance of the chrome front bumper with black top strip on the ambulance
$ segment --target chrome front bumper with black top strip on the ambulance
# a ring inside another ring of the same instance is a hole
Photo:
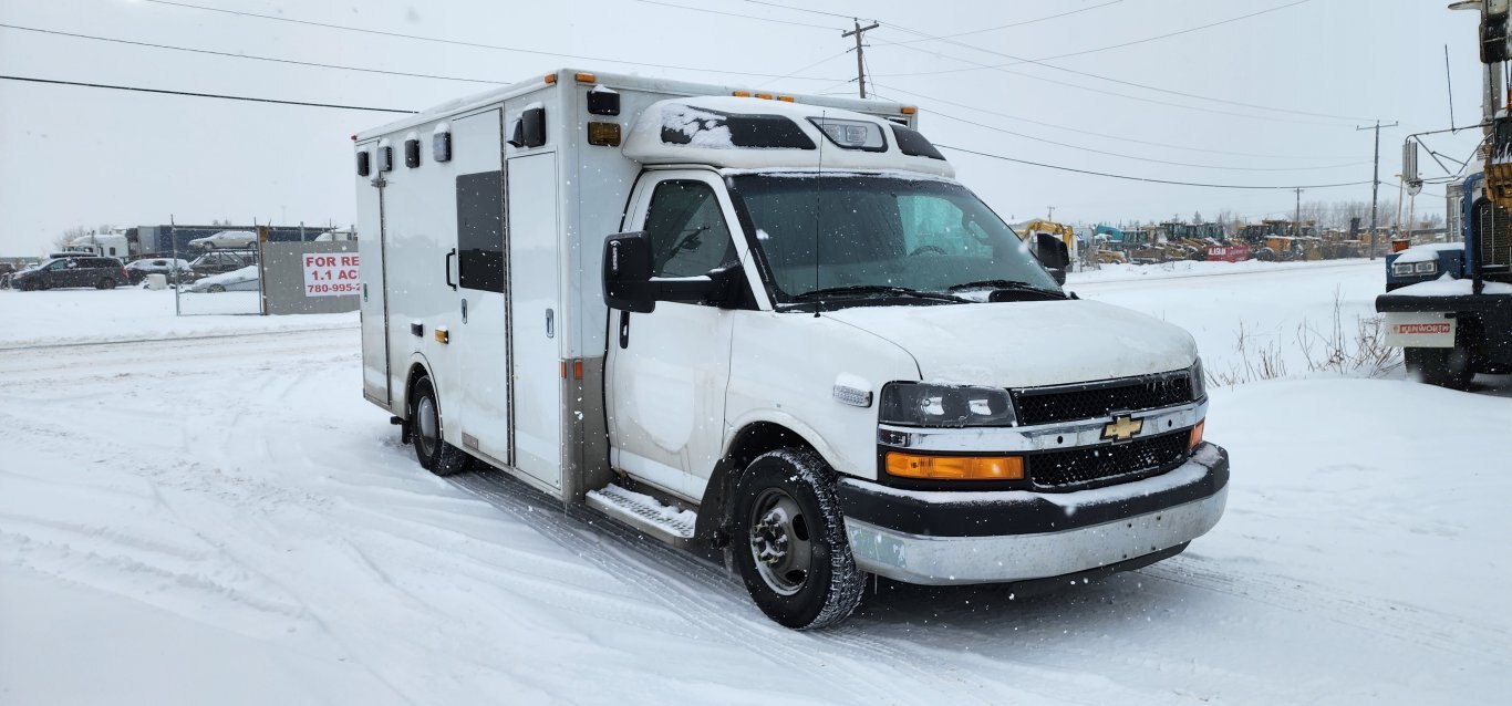
[[[857,565],[909,584],[996,584],[1131,564],[1202,537],[1228,502],[1228,452],[1202,444],[1154,478],[1075,493],[839,485]]]

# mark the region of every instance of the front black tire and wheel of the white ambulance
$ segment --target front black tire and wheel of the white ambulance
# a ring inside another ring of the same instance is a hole
[[[751,461],[735,485],[730,544],[745,590],[767,617],[795,630],[845,620],[866,587],[833,478],[818,454],[779,449]]]

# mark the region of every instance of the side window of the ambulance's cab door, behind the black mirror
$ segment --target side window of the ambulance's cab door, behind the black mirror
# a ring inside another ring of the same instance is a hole
[[[720,200],[703,181],[662,181],[646,212],[652,239],[652,274],[697,277],[735,265],[735,243]]]

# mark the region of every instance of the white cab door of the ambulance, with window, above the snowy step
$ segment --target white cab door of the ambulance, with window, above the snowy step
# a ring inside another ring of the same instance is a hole
[[[736,224],[718,177],[656,172],[641,181],[626,230],[652,242],[653,277],[702,277],[739,263]],[[609,310],[609,463],[640,481],[699,499],[724,441],[735,310],[656,302]]]

